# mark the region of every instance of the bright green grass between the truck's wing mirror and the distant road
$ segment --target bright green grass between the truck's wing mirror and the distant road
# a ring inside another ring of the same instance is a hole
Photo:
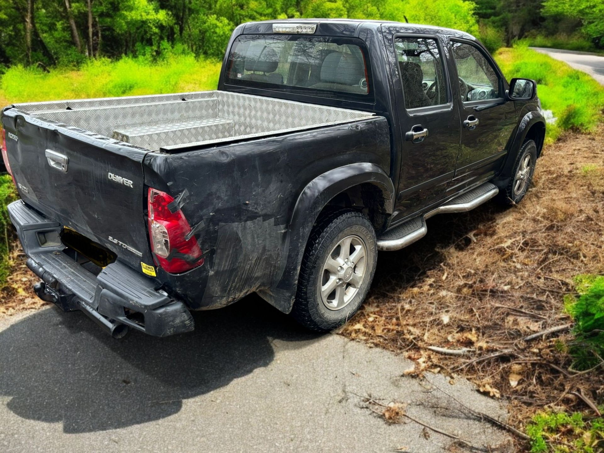
[[[536,80],[542,107],[557,118],[555,124],[548,124],[548,141],[564,130],[591,132],[603,120],[604,86],[585,72],[531,50],[525,43],[498,50],[495,59],[508,80]]]

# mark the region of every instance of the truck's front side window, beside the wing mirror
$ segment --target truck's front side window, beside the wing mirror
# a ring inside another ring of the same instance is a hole
[[[464,102],[501,97],[499,77],[489,60],[477,47],[465,42],[451,42],[461,99]]]

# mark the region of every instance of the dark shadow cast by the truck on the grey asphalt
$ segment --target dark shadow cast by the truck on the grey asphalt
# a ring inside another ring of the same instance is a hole
[[[65,432],[124,428],[266,367],[273,339],[302,348],[320,338],[255,295],[194,318],[185,335],[116,341],[81,312],[42,310],[0,332],[0,395],[18,416]]]

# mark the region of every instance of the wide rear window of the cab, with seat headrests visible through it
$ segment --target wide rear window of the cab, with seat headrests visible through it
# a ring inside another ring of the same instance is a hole
[[[370,67],[359,39],[242,35],[228,57],[225,83],[369,102]]]

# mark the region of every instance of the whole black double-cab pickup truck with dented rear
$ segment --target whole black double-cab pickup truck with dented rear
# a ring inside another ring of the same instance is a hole
[[[378,250],[521,201],[545,135],[535,82],[471,35],[323,19],[239,25],[216,91],[15,104],[2,127],[37,295],[116,337],[252,292],[334,329]]]

